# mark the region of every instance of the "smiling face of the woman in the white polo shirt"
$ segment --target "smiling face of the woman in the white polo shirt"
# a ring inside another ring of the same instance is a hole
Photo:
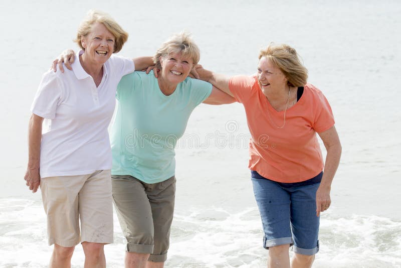
[[[115,38],[102,23],[95,23],[92,31],[81,38],[85,59],[92,63],[104,64],[113,54]]]

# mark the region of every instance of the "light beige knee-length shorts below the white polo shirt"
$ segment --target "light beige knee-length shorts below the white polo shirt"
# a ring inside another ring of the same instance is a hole
[[[110,177],[110,170],[99,170],[89,175],[41,179],[49,245],[113,243]]]

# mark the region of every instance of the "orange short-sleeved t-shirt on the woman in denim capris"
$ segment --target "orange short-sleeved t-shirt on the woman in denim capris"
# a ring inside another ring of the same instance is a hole
[[[294,106],[276,111],[263,94],[256,76],[234,76],[230,90],[245,107],[249,131],[249,168],[263,177],[283,183],[302,182],[323,170],[316,132],[334,125],[331,107],[323,93],[311,84]],[[270,115],[270,116],[269,116]]]

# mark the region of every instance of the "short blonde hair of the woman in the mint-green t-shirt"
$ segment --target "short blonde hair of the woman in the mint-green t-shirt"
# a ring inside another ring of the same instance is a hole
[[[171,36],[156,51],[152,59],[157,68],[161,69],[160,57],[165,57],[171,52],[181,52],[182,56],[191,58],[193,66],[195,66],[200,59],[199,48],[192,41],[191,34],[186,31]]]

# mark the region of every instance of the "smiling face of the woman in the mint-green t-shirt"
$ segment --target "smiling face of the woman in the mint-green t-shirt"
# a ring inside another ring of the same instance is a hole
[[[183,56],[181,52],[171,52],[160,57],[161,75],[168,83],[178,84],[188,77],[193,67],[193,61],[189,56]]]

